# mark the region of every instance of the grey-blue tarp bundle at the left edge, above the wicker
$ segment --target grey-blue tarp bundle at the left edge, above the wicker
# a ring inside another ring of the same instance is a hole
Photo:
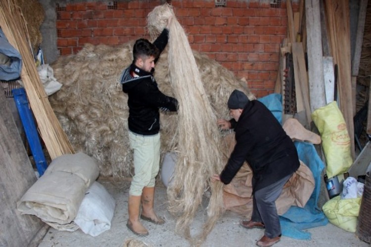
[[[10,61],[6,64],[0,63],[0,80],[16,80],[21,75],[22,57],[19,52],[7,41],[4,33],[0,29],[0,53],[9,57]]]

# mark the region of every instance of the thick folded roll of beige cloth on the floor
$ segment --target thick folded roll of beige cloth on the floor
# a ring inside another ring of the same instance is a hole
[[[57,230],[75,231],[79,226],[73,220],[98,175],[96,162],[84,153],[57,157],[23,195],[17,209],[36,215]]]

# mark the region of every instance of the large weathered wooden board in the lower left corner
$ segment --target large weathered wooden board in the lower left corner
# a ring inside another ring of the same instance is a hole
[[[48,226],[33,215],[21,215],[15,207],[36,175],[3,93],[0,112],[0,246],[37,247]]]

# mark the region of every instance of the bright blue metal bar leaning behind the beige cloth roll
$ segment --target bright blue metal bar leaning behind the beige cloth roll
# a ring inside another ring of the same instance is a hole
[[[38,130],[29,108],[26,91],[24,88],[12,89],[15,105],[17,106],[19,117],[22,121],[23,128],[26,132],[28,143],[30,144],[32,156],[34,157],[36,168],[39,175],[42,176],[47,168],[46,160],[41,142],[38,135]]]

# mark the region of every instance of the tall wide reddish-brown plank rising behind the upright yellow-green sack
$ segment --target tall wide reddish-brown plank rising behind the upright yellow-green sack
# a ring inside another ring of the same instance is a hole
[[[340,110],[347,124],[351,143],[351,154],[355,157],[353,98],[351,82],[351,56],[349,32],[349,1],[326,0],[328,31],[334,64],[338,65],[337,88],[340,98]],[[339,101],[338,101],[339,103]]]

